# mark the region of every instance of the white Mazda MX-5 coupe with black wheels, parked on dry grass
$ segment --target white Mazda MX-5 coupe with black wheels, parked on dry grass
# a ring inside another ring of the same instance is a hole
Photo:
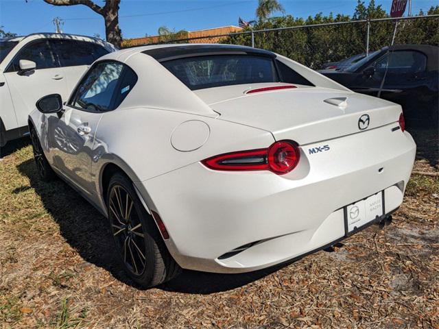
[[[143,287],[181,268],[270,267],[382,223],[416,151],[401,106],[250,47],[124,49],[69,99],[36,106],[40,176],[56,173],[108,217]]]

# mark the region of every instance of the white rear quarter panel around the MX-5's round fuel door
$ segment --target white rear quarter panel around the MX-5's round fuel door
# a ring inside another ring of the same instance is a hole
[[[193,120],[209,125],[209,136],[198,149],[178,151],[171,144],[171,135],[181,123]],[[140,182],[217,154],[268,147],[273,142],[270,132],[210,117],[153,108],[119,109],[105,113],[99,122],[92,179],[97,195],[102,195],[100,182],[109,163],[121,167],[133,182]]]

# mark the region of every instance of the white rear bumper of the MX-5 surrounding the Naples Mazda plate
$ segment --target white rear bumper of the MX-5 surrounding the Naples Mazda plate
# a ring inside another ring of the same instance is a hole
[[[385,126],[325,142],[332,152],[318,155],[307,154],[316,145],[302,146],[300,164],[287,175],[211,171],[198,162],[137,187],[161,215],[181,267],[254,271],[344,238],[348,204],[383,190],[385,214],[401,204],[416,145],[408,133],[389,132]]]

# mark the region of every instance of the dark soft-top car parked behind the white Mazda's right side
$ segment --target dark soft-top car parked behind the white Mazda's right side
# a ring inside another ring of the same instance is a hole
[[[439,47],[395,45],[370,53],[342,72],[322,74],[357,93],[378,96],[403,107],[407,125],[438,124]],[[387,73],[386,72],[387,66]]]

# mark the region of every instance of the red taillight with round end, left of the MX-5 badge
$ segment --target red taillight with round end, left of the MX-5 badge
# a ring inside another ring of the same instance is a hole
[[[280,141],[268,149],[238,151],[202,160],[202,164],[213,170],[253,171],[269,170],[283,175],[289,173],[298,164],[300,150],[292,141]]]

